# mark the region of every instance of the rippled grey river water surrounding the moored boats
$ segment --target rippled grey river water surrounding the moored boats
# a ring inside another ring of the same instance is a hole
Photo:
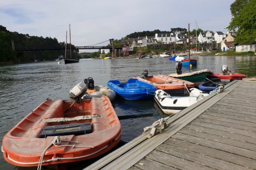
[[[222,65],[247,76],[256,76],[256,56],[193,56],[197,66],[183,67],[183,72],[206,68],[221,72]],[[98,60],[81,59],[79,63],[65,65],[64,61],[28,63],[0,66],[0,140],[24,116],[45,99],[69,99],[68,92],[83,79],[93,77],[95,85],[107,85],[109,80],[127,81],[132,75],[140,76],[143,69],[149,75],[175,73],[175,61],[166,58]],[[143,132],[145,126],[166,115],[152,100],[116,100],[112,105],[118,116],[157,113],[151,117],[121,120],[122,139],[132,140]],[[84,166],[80,166],[84,167]],[[13,166],[0,157],[0,169],[29,169]],[[34,169],[34,168],[32,168]],[[77,168],[79,169],[79,168]]]

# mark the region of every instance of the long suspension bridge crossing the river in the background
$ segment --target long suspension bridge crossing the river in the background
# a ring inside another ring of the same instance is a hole
[[[65,49],[65,47],[34,47],[34,48],[20,47],[20,48],[14,49],[14,44],[13,44],[13,50],[15,50],[15,51],[42,51],[42,50],[64,50],[64,49]],[[114,39],[109,39],[104,42],[100,42],[100,43],[89,45],[89,46],[72,46],[71,49],[72,50],[76,50],[76,49],[109,49],[111,56],[116,57],[116,56],[120,56],[120,49],[122,49],[122,47],[114,47]]]

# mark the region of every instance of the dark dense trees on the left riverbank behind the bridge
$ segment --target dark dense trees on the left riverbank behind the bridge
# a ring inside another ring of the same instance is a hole
[[[10,32],[6,27],[0,25],[0,62],[1,63],[22,63],[34,60],[55,60],[60,55],[64,55],[64,50],[42,50],[42,51],[14,51],[14,48],[60,48],[65,47],[65,42],[58,42],[56,38],[37,37],[29,34]],[[73,46],[73,45],[72,45]],[[76,56],[79,51],[72,50],[72,56]]]

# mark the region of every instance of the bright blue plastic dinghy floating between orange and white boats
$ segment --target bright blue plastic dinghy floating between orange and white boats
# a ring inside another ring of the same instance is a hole
[[[127,83],[120,83],[118,80],[111,80],[107,82],[107,86],[127,100],[153,98],[153,94],[156,91],[155,86],[146,82],[138,81],[138,79],[129,79]]]

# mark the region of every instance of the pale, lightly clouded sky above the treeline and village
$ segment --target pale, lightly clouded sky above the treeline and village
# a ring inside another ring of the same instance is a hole
[[[225,31],[235,0],[0,0],[0,25],[11,32],[88,46],[134,32],[197,25]],[[85,50],[91,52],[90,50]],[[81,50],[80,50],[81,52]],[[82,51],[84,52],[84,51]]]

